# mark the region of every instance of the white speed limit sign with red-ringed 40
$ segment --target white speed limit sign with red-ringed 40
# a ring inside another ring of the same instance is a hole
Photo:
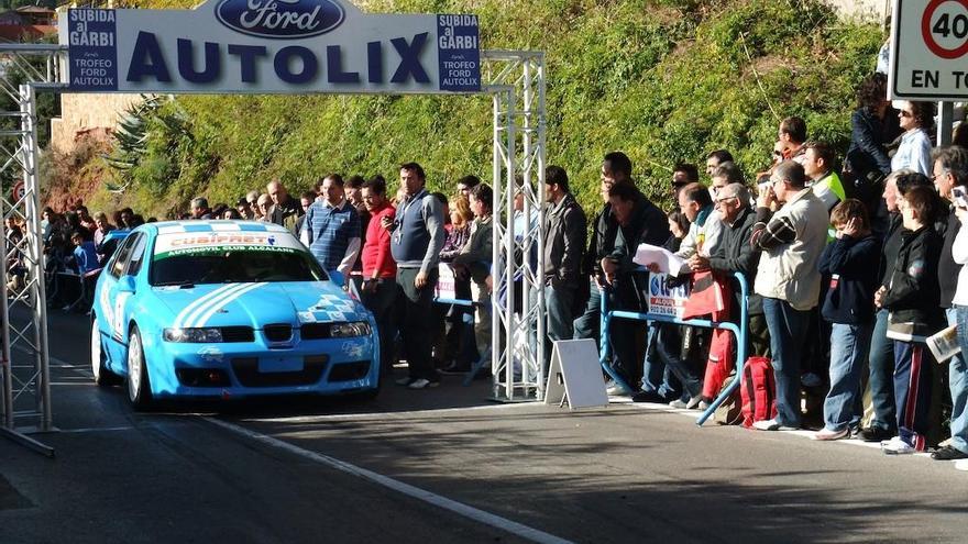
[[[968,0],[894,0],[891,99],[968,99]]]

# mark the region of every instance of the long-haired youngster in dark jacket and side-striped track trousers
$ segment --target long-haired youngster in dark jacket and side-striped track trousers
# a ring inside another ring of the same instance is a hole
[[[888,285],[875,293],[886,308],[888,337],[894,341],[894,402],[899,435],[881,443],[887,454],[923,452],[930,426],[933,357],[925,338],[942,329],[937,266],[942,238],[933,224],[938,197],[928,187],[914,187],[898,202],[904,232]]]

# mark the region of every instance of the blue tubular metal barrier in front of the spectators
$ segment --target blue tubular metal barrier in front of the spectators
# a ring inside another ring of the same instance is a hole
[[[646,268],[639,268],[637,271],[648,271]],[[612,369],[612,365],[608,364],[608,359],[610,358],[612,346],[608,342],[608,325],[610,324],[613,319],[628,319],[635,321],[658,321],[662,323],[674,323],[679,325],[689,325],[689,326],[700,326],[703,329],[723,329],[732,332],[736,336],[736,378],[722,391],[719,391],[719,396],[716,397],[715,400],[710,404],[702,415],[696,420],[696,425],[702,426],[710,417],[713,415],[713,412],[716,411],[717,408],[729,397],[736,388],[739,387],[739,381],[743,377],[743,367],[746,365],[746,345],[747,345],[747,336],[748,336],[748,327],[749,327],[749,309],[747,297],[749,296],[749,286],[746,281],[746,278],[741,273],[734,273],[733,277],[739,282],[740,290],[740,304],[739,304],[739,324],[730,323],[728,321],[711,321],[704,319],[690,319],[690,320],[681,320],[678,318],[670,318],[669,315],[659,315],[654,313],[642,313],[642,312],[631,312],[624,310],[608,310],[608,297],[606,292],[602,293],[602,335],[600,338],[601,347],[601,358],[600,363],[602,364],[602,368],[605,370],[608,376],[615,380],[616,384],[622,385],[629,391],[635,391],[636,388],[629,387],[628,384],[625,382],[622,377],[619,377],[615,370]],[[648,353],[648,349],[647,349]]]

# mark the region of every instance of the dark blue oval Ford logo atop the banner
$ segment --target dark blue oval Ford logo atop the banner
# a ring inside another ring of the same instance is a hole
[[[324,34],[344,16],[333,0],[221,0],[216,5],[216,18],[233,31],[282,40]]]

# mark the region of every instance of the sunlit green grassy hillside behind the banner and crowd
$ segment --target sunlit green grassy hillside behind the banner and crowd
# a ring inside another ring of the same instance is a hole
[[[172,0],[141,2],[173,7]],[[190,2],[183,2],[188,4]],[[873,69],[880,30],[838,21],[816,0],[404,0],[372,12],[475,12],[488,48],[543,49],[548,162],[597,207],[602,155],[625,149],[660,195],[680,160],[718,147],[748,173],[769,162],[779,120],[806,119],[843,148],[854,89]],[[178,97],[147,119],[145,154],[102,191],[152,214],[195,195],[231,201],[280,176],[298,191],[328,171],[382,173],[416,159],[450,193],[461,175],[490,177],[485,97]],[[100,171],[100,170],[99,170]],[[90,199],[89,199],[90,200]]]

